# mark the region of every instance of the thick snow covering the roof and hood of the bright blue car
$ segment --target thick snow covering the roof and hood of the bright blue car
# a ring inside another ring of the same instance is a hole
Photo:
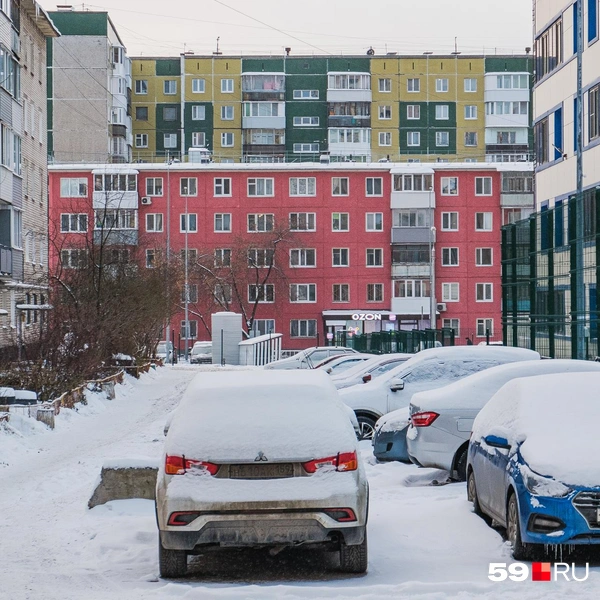
[[[512,445],[540,475],[570,485],[600,486],[600,373],[561,373],[513,379],[481,410],[473,440],[493,433]]]

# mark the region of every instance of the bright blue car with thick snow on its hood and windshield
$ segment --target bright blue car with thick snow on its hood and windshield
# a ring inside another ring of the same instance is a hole
[[[514,379],[475,419],[468,499],[506,527],[516,560],[600,544],[598,389],[598,373]]]

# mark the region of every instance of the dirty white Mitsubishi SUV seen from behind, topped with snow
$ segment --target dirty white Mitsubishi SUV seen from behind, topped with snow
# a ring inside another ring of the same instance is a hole
[[[358,442],[326,373],[202,373],[175,410],[157,477],[160,574],[184,575],[188,555],[209,546],[299,544],[362,573],[367,505]]]

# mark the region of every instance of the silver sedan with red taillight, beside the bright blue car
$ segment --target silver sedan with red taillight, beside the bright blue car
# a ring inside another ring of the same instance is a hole
[[[412,397],[409,406],[410,425],[406,438],[410,460],[422,467],[446,469],[453,478],[465,481],[473,421],[505,383],[517,377],[589,371],[600,373],[600,364],[585,360],[523,361],[486,369],[437,390],[419,392]],[[385,454],[384,440],[378,441],[378,438],[386,437],[381,435],[381,430],[394,431],[390,420],[396,412],[383,417],[386,424],[375,436],[375,456],[378,458],[378,453]]]

